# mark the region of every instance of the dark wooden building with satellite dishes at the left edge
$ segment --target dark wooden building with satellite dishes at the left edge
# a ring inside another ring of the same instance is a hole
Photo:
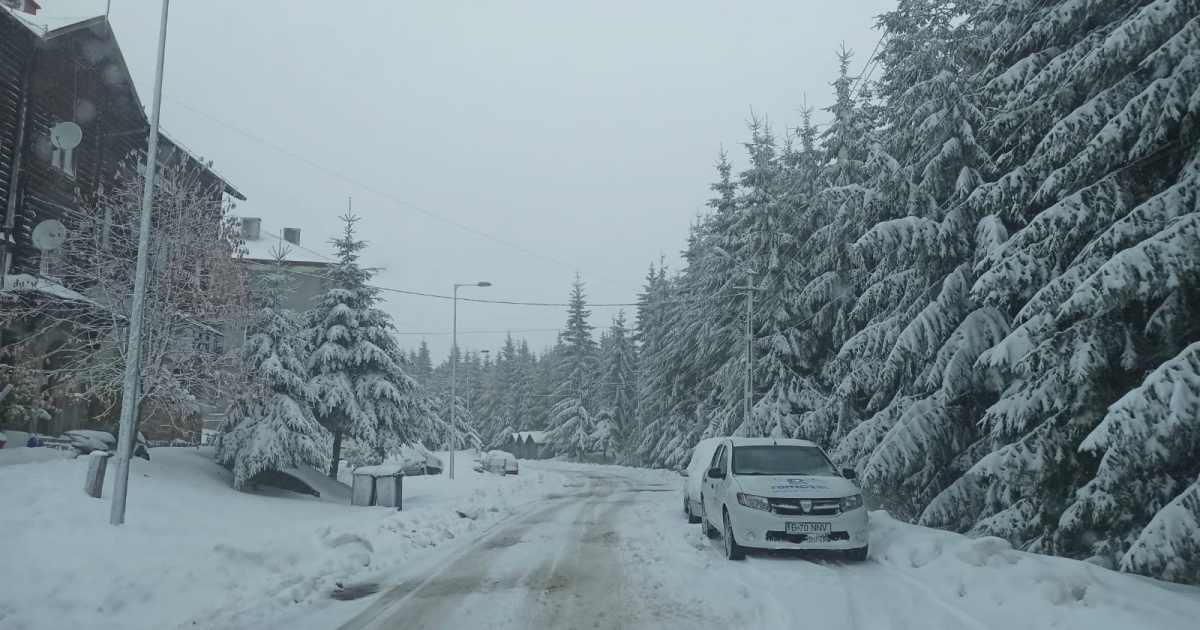
[[[56,18],[38,8],[29,0],[0,0],[0,292],[12,290],[13,281],[24,278],[38,299],[53,302],[83,288],[40,277],[34,228],[58,220],[70,230],[68,215],[89,208],[102,186],[112,186],[119,175],[137,176],[144,168],[150,125],[104,17],[104,2],[96,2],[90,17]],[[77,126],[78,144],[64,149],[52,142],[52,130],[60,124]],[[214,191],[217,206],[224,196],[245,199],[211,167],[161,134],[158,163],[169,167],[181,160],[197,164],[198,181]],[[30,284],[30,278],[36,282]],[[0,347],[37,330],[37,322],[5,328],[0,318]],[[61,343],[68,336],[43,334],[37,343]],[[44,355],[46,349],[35,354]],[[31,428],[58,433],[85,426],[82,413],[68,406],[48,426]]]

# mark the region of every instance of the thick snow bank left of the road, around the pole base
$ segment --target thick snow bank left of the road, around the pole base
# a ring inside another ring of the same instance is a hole
[[[22,449],[43,451],[46,449]],[[10,457],[6,449],[0,451]],[[86,460],[0,467],[0,628],[254,628],[338,604],[337,583],[386,580],[414,550],[470,536],[562,487],[556,473],[404,479],[404,511],[274,488],[238,492],[208,449],[134,458],[126,524],[86,497]]]

